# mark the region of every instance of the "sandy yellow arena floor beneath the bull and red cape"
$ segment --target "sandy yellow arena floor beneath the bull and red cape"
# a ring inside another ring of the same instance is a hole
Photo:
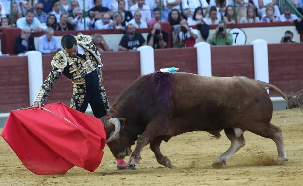
[[[303,113],[300,109],[275,111],[272,123],[281,127],[286,155],[284,165],[274,165],[277,149],[271,139],[245,132],[246,145],[222,169],[212,162],[230,145],[224,132],[212,139],[192,132],[163,142],[161,150],[174,168],[159,165],[145,147],[137,170],[117,171],[108,147],[95,172],[74,167],[60,176],[38,176],[28,171],[0,138],[0,186],[303,186]],[[0,129],[0,132],[2,129]],[[134,147],[133,147],[134,149]]]

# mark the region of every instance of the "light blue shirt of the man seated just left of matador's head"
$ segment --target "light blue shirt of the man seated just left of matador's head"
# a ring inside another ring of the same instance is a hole
[[[49,54],[51,51],[57,51],[61,46],[55,36],[49,41],[46,35],[42,35],[38,40],[38,51],[43,54]]]

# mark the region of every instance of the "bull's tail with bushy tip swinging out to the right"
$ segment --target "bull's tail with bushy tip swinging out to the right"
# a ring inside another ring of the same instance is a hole
[[[258,81],[258,83],[261,84],[265,89],[278,92],[282,98],[287,101],[287,109],[303,107],[303,90],[300,90],[296,94],[287,95],[274,85],[261,81]]]

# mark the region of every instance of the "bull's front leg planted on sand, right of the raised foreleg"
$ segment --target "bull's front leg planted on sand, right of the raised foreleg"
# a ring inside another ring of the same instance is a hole
[[[170,137],[169,137],[169,139],[170,139]],[[152,152],[155,153],[155,156],[156,156],[159,164],[164,165],[165,167],[172,168],[170,159],[168,157],[164,156],[160,151],[161,142],[162,142],[162,138],[157,137],[156,139],[154,139],[153,141],[150,142],[150,148],[152,149]]]

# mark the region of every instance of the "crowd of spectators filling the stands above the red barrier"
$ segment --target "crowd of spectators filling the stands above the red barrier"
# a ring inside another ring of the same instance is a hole
[[[290,2],[302,13],[303,0]],[[28,29],[30,33],[44,31],[37,47],[42,53],[58,50],[54,31],[118,29],[125,32],[118,49],[134,50],[144,44],[167,46],[167,33],[157,24],[161,21],[173,26],[174,46],[181,47],[193,46],[198,31],[213,45],[231,44],[225,32],[228,24],[301,21],[288,7],[281,14],[277,0],[236,0],[235,4],[234,0],[13,0],[12,11],[10,3],[0,0],[0,32],[10,26],[23,29],[18,39],[28,46],[16,45],[16,50],[26,51],[31,49],[30,41],[24,42]],[[194,25],[197,30],[191,28]],[[218,25],[210,37],[208,25]],[[147,41],[135,33],[138,28],[152,28]],[[100,51],[109,50],[101,34],[93,38]]]

